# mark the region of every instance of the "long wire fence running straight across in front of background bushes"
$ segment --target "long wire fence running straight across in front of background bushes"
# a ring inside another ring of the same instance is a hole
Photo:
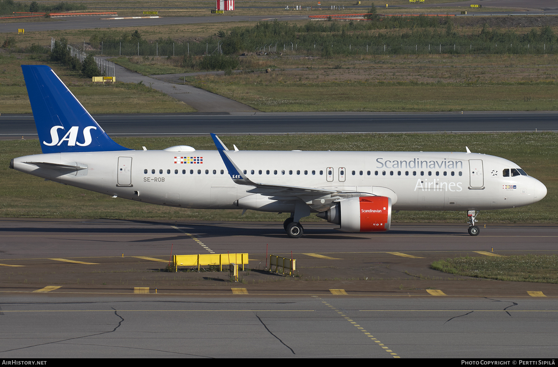
[[[223,54],[222,43],[117,43],[100,45],[100,53],[105,56],[199,56]],[[325,50],[329,49],[329,50]],[[250,46],[248,52],[282,52],[285,55],[420,55],[420,54],[558,54],[555,44],[487,44],[455,43],[455,44],[307,44],[296,42],[270,42],[269,44]]]

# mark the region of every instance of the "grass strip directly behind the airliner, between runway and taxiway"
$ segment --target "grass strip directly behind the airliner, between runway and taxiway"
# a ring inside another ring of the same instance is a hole
[[[186,144],[196,149],[215,149],[209,137],[115,138],[123,146],[161,149]],[[479,223],[558,223],[558,134],[358,134],[296,136],[227,136],[225,144],[243,150],[327,150],[333,151],[471,151],[493,154],[518,163],[541,180],[548,194],[536,204],[514,209],[483,211]],[[40,153],[39,141],[0,141],[0,217],[30,218],[114,218],[165,220],[282,221],[287,214],[249,210],[193,210],[112,199],[107,195],[60,185],[10,170],[9,160]],[[319,221],[311,215],[304,221]],[[394,222],[464,223],[465,214],[453,211],[401,211]]]

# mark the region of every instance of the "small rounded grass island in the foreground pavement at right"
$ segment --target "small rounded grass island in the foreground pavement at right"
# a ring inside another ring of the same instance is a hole
[[[558,255],[460,257],[438,260],[432,269],[508,282],[558,283]]]

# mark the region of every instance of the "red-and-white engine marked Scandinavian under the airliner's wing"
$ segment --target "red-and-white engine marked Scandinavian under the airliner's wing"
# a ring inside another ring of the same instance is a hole
[[[386,196],[349,197],[319,213],[345,232],[383,232],[391,225],[391,199]]]

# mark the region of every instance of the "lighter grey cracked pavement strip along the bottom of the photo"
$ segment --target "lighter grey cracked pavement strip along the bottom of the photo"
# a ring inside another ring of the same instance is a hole
[[[0,358],[554,358],[554,299],[3,296]]]

